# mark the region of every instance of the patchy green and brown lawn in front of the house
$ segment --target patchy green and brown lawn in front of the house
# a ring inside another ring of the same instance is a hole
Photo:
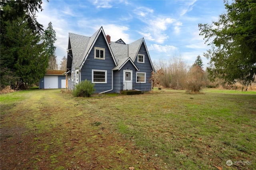
[[[73,98],[60,90],[28,90],[1,95],[1,128],[24,125],[24,136],[36,133],[31,151],[44,150],[40,160],[50,153],[49,167],[60,169],[82,160],[88,166],[98,160],[104,168],[138,169],[145,159],[150,169],[157,169],[154,162],[162,169],[256,169],[255,114],[252,91],[154,89]],[[227,166],[227,160],[252,164]],[[38,161],[31,164],[39,166]]]

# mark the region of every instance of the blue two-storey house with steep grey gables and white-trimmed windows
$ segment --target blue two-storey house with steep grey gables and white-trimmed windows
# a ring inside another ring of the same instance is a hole
[[[91,37],[69,33],[67,53],[68,89],[87,79],[96,93],[151,90],[154,67],[144,38],[130,44],[113,42],[102,27]]]

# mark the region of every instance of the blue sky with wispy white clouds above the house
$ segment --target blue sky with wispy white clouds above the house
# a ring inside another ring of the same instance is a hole
[[[218,21],[225,10],[222,0],[42,0],[36,14],[44,26],[52,22],[56,32],[57,62],[67,55],[68,33],[91,37],[101,26],[111,41],[126,44],[144,37],[153,63],[181,57],[192,65],[210,49],[200,36],[198,23]]]

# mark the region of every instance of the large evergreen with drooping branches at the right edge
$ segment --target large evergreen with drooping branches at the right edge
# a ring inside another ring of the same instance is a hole
[[[256,1],[224,1],[227,12],[212,24],[199,24],[211,49],[204,54],[210,59],[207,71],[211,80],[223,78],[248,86],[256,75]],[[213,41],[212,41],[213,39]]]

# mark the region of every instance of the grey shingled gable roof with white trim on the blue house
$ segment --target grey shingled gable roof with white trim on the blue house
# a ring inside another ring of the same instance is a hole
[[[124,43],[122,39],[119,39],[115,42],[111,41],[109,44],[106,38],[106,34],[104,33],[103,27],[100,27],[100,29],[98,29],[92,35],[92,37],[86,37],[83,35],[69,33],[69,41],[71,44],[73,62],[75,64],[75,67],[82,68],[100,33],[103,33],[106,44],[108,45],[108,49],[110,50],[111,56],[114,60],[115,67],[113,68],[113,70],[120,70],[122,66],[124,66],[124,64],[126,64],[129,60],[132,61],[133,65],[138,70],[137,66],[134,64],[134,61],[136,59],[136,56],[138,55],[138,52],[142,44],[144,44],[146,48],[145,52],[148,54],[150,64],[152,66],[152,69],[154,70],[154,66],[150,59],[150,55],[148,53],[148,49],[146,47],[144,38],[138,39],[130,44]]]

